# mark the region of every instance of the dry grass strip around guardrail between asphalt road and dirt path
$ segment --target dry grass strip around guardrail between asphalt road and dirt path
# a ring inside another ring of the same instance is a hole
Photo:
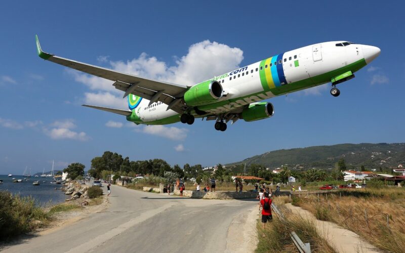
[[[292,214],[285,208],[285,202],[289,202],[288,197],[277,197],[273,201],[284,214],[286,222],[281,221],[273,212],[273,220],[268,222],[263,230],[261,219],[259,219],[257,223],[259,242],[256,252],[297,252],[297,247],[290,238],[292,231],[296,232],[304,243],[310,243],[312,252],[336,252],[326,239],[317,232],[315,224]]]

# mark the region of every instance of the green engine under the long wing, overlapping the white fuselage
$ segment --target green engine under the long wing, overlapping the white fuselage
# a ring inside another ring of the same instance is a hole
[[[200,82],[184,93],[184,102],[188,106],[208,105],[222,98],[223,93],[218,81]]]

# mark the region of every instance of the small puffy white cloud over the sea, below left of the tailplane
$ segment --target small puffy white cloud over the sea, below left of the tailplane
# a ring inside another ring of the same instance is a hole
[[[51,124],[51,126],[53,126],[53,128],[43,129],[44,134],[51,137],[51,139],[54,140],[72,139],[78,141],[89,140],[89,137],[85,132],[75,132],[71,130],[73,128],[76,128],[76,125],[73,123],[73,119],[64,119],[55,121]]]

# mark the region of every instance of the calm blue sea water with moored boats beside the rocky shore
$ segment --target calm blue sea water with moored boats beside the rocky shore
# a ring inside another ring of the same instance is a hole
[[[13,183],[13,178],[22,179],[21,183]],[[64,202],[68,195],[60,190],[62,185],[51,184],[52,178],[30,177],[29,181],[25,181],[23,176],[16,176],[9,178],[8,175],[0,175],[3,184],[0,185],[0,191],[10,191],[13,194],[20,194],[21,196],[32,196],[39,205],[46,206],[51,201],[51,204]],[[39,185],[32,185],[34,181],[39,181]],[[43,182],[45,181],[45,182]],[[55,190],[57,188],[57,190]]]

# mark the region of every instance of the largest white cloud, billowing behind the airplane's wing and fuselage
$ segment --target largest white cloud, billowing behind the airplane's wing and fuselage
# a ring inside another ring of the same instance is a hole
[[[191,45],[187,55],[176,59],[175,65],[169,66],[156,57],[142,53],[138,58],[109,61],[109,64],[110,68],[116,71],[191,86],[214,75],[238,68],[244,57],[238,48],[204,40]],[[108,58],[101,56],[98,60],[104,62],[108,61]],[[74,80],[94,91],[85,93],[86,103],[123,109],[127,107],[126,102],[121,99],[123,92],[115,89],[112,81],[75,70],[67,71]]]

